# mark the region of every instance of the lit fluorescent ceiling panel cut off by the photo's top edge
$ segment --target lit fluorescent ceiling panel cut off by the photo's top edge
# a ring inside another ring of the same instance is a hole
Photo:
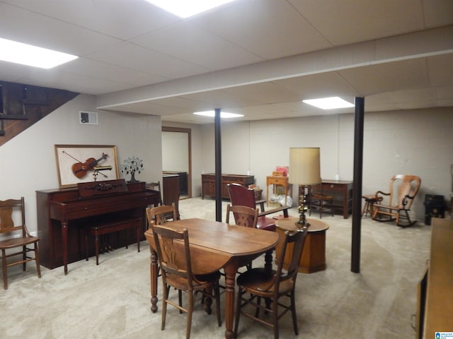
[[[179,16],[180,18],[188,18],[195,14],[207,11],[208,9],[221,6],[234,0],[147,0],[164,11]]]

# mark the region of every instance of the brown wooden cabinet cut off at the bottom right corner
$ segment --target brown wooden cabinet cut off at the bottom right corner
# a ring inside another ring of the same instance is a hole
[[[432,218],[430,261],[423,279],[427,280],[422,280],[418,287],[415,326],[418,339],[437,338],[437,332],[453,332],[452,246],[453,220]]]

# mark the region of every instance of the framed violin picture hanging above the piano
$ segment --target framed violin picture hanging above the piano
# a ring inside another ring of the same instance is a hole
[[[119,177],[115,145],[55,145],[60,187]]]

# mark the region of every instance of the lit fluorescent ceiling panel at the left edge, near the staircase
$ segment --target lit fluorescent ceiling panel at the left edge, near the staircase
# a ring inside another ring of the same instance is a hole
[[[0,60],[3,61],[40,67],[42,69],[52,69],[52,67],[77,58],[76,55],[0,38]]]

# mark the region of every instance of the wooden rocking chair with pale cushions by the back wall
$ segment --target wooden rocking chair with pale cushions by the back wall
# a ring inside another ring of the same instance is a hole
[[[416,220],[411,220],[409,211],[413,199],[420,189],[421,179],[416,175],[398,174],[390,179],[389,192],[377,191],[377,199],[382,203],[374,204],[373,220],[393,221],[401,227],[411,226]],[[387,198],[387,201],[385,199]]]

